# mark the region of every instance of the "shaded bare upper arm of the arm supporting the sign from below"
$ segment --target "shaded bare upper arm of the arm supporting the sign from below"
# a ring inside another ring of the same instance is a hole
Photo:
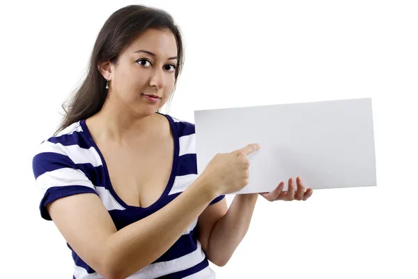
[[[228,211],[228,205],[224,196],[218,199],[220,200],[215,199],[215,203],[211,203],[206,207],[197,220],[198,239],[205,252],[208,252],[208,244],[213,227],[215,227],[217,220],[222,218],[226,214],[226,211]]]

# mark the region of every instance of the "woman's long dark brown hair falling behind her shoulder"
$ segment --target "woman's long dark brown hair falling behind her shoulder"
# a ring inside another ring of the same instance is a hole
[[[91,52],[86,77],[70,98],[68,110],[65,110],[65,103],[63,104],[65,115],[56,133],[72,123],[93,116],[102,109],[107,96],[107,81],[98,70],[98,64],[110,61],[116,65],[121,51],[146,29],[169,29],[176,37],[178,56],[174,84],[176,88],[178,75],[183,67],[184,54],[180,29],[174,23],[173,17],[157,8],[126,6],[116,10],[104,22]]]

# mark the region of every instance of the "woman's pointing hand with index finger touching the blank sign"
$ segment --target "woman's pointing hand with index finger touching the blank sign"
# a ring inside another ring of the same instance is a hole
[[[201,177],[219,195],[242,190],[248,184],[249,160],[247,156],[258,150],[258,144],[248,144],[231,153],[219,153],[210,160]]]

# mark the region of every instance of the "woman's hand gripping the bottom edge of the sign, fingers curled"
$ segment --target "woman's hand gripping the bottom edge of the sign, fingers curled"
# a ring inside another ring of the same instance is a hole
[[[295,189],[295,183],[291,178],[288,181],[287,191],[282,191],[284,187],[284,182],[282,181],[281,183],[279,183],[279,186],[277,186],[277,188],[272,190],[272,192],[260,193],[260,195],[267,199],[269,202],[274,202],[277,200],[292,201],[294,199],[299,201],[306,201],[307,199],[309,199],[314,190],[312,188],[308,188],[307,190],[305,190],[300,176],[297,177],[296,183],[297,188]]]

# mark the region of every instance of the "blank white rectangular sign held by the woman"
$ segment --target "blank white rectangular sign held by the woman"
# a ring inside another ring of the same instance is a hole
[[[296,176],[314,189],[376,186],[371,98],[196,110],[194,122],[198,174],[217,153],[261,145],[235,194],[287,190]]]

